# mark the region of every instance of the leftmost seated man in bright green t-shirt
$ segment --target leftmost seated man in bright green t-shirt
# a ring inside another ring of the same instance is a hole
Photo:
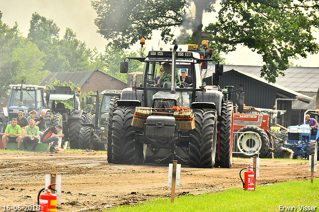
[[[4,150],[6,150],[6,143],[18,143],[18,150],[21,145],[21,127],[16,124],[16,118],[11,119],[11,123],[6,126],[4,135],[2,135],[2,144]]]

